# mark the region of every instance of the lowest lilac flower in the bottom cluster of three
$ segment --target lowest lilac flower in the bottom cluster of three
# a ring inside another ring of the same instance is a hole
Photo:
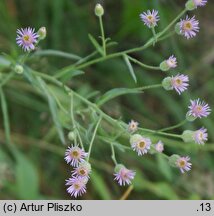
[[[66,184],[69,187],[67,188],[67,192],[74,196],[75,198],[78,196],[82,196],[84,193],[86,193],[86,184],[87,179],[83,177],[73,177],[66,180]]]

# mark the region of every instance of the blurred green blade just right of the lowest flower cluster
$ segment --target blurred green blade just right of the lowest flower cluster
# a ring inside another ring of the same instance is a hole
[[[111,199],[111,195],[103,179],[103,176],[98,174],[95,170],[93,170],[92,175],[91,175],[91,183],[93,184],[93,190],[99,194],[101,199],[104,199],[104,200]]]

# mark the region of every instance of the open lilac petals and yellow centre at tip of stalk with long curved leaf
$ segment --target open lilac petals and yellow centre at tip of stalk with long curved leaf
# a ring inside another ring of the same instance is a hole
[[[172,88],[175,89],[179,95],[187,89],[189,86],[188,82],[188,76],[183,74],[177,74],[175,77],[172,76],[171,79]]]

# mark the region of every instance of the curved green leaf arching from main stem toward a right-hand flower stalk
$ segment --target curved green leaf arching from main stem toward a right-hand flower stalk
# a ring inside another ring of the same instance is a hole
[[[104,95],[102,95],[98,102],[97,102],[97,105],[98,106],[101,106],[103,105],[104,103],[106,103],[107,101],[115,98],[115,97],[118,97],[118,96],[121,96],[121,95],[126,95],[126,94],[139,94],[139,93],[142,93],[141,90],[139,89],[129,89],[129,88],[116,88],[116,89],[112,89],[108,92],[106,92]]]

